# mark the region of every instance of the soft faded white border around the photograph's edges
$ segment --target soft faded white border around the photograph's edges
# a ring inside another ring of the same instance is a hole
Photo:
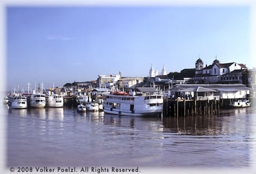
[[[207,6],[248,6],[251,8],[251,67],[256,67],[256,1],[254,0],[121,0],[119,1],[111,1],[111,0],[45,0],[45,1],[18,1],[18,0],[2,0],[0,2],[0,99],[4,98],[3,93],[6,87],[6,7],[7,6],[176,6],[176,7],[184,7],[184,6],[196,6],[196,7],[207,7]],[[255,108],[255,106],[253,106]],[[254,113],[255,114],[255,113]],[[0,172],[1,173],[10,173],[9,169],[6,167],[6,147],[5,147],[5,113],[0,107]],[[253,124],[256,125],[256,114],[253,117]],[[251,130],[251,139],[254,138],[254,142],[251,143],[252,151],[251,151],[251,160],[253,165],[248,168],[242,169],[230,169],[230,168],[142,168],[140,169],[141,173],[254,173],[256,171],[256,126]],[[16,173],[16,172],[14,172]],[[33,172],[36,173],[36,172]],[[111,173],[111,172],[109,172]]]

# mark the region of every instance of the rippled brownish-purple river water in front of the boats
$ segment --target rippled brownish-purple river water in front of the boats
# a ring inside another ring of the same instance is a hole
[[[132,117],[75,108],[5,108],[7,166],[248,167],[252,108]],[[255,134],[254,134],[255,135]]]

